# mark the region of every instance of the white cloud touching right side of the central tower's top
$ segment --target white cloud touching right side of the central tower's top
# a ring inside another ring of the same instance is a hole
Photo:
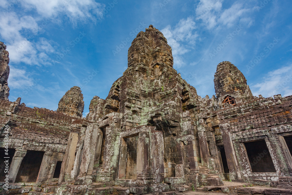
[[[175,68],[180,68],[185,65],[181,55],[190,51],[184,44],[194,45],[197,38],[197,33],[193,32],[196,28],[196,23],[192,18],[182,19],[174,28],[170,25],[161,30],[167,43],[172,48],[173,64]]]

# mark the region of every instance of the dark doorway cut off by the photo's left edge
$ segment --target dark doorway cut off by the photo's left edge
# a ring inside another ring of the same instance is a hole
[[[0,180],[4,181],[4,179],[6,178],[5,175],[7,175],[7,170],[9,170],[12,158],[14,156],[15,153],[15,149],[8,149],[8,155],[6,155],[6,149],[5,148],[0,148]],[[6,161],[8,160],[8,166],[6,165]],[[8,169],[7,169],[8,167]],[[6,169],[6,170],[5,170]],[[6,171],[6,173],[5,173]]]

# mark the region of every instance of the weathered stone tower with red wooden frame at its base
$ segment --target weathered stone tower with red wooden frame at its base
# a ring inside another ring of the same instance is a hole
[[[221,108],[225,102],[239,105],[253,99],[246,78],[232,63],[228,61],[219,63],[214,76],[216,97]]]

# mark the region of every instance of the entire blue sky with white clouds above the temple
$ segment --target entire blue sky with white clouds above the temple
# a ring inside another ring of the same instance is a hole
[[[10,57],[10,101],[58,108],[81,87],[84,116],[127,68],[128,48],[150,24],[172,47],[173,67],[205,97],[218,63],[241,70],[254,96],[292,95],[291,1],[0,0]]]

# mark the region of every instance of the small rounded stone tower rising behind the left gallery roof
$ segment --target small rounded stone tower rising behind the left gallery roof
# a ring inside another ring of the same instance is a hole
[[[82,117],[83,110],[83,95],[81,94],[80,87],[74,86],[60,99],[57,112]]]

